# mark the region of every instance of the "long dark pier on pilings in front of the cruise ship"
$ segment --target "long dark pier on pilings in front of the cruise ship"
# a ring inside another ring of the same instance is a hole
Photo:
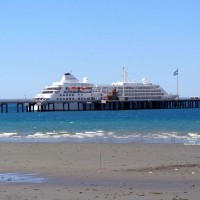
[[[58,105],[59,104],[59,108]],[[73,104],[73,106],[72,106]],[[0,112],[8,113],[11,106],[16,112],[54,112],[90,110],[188,109],[200,108],[199,98],[149,101],[34,101],[32,99],[0,99]],[[74,106],[76,109],[74,109]]]

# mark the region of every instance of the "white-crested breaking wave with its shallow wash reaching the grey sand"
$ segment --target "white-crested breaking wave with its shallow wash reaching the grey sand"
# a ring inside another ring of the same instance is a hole
[[[200,133],[178,134],[163,133],[132,133],[122,134],[105,131],[85,131],[68,133],[67,131],[35,132],[27,136],[18,133],[0,133],[0,141],[45,141],[45,142],[100,142],[100,143],[182,143],[200,144]]]

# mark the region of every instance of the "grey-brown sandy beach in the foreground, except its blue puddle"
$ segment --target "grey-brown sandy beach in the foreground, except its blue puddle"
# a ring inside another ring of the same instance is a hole
[[[1,143],[0,158],[1,199],[197,200],[200,195],[200,146]],[[4,173],[35,174],[43,181],[12,182],[3,180]]]

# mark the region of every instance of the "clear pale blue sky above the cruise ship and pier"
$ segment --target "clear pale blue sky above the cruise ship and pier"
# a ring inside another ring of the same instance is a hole
[[[63,73],[143,77],[200,96],[199,0],[0,1],[0,98],[32,98]]]

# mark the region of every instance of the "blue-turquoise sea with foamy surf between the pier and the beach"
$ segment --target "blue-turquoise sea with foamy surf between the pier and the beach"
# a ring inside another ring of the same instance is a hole
[[[0,113],[0,142],[200,143],[200,109]]]

